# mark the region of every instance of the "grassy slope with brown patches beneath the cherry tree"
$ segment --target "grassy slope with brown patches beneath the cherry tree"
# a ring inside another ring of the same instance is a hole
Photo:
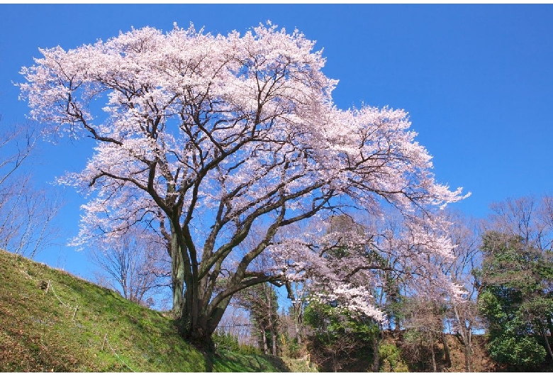
[[[48,281],[53,289],[46,294],[41,284],[45,287]],[[288,370],[279,360],[259,355],[203,355],[183,341],[172,320],[160,312],[128,302],[116,292],[67,272],[0,250],[0,372],[131,369]]]

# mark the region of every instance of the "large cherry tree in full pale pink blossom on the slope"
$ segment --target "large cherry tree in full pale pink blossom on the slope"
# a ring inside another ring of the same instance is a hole
[[[57,135],[96,140],[84,170],[62,178],[91,195],[80,241],[157,221],[170,238],[173,311],[195,343],[209,341],[236,292],[298,280],[308,270],[328,272],[320,283],[347,299],[348,309],[384,319],[354,282],[376,265],[352,255],[340,272],[309,233],[274,241],[308,219],[324,225],[348,211],[379,216],[391,205],[410,223],[410,240],[398,247],[421,263],[411,270],[434,279],[425,255],[451,255],[451,243],[432,228],[440,207],[462,199],[462,190],[435,182],[405,111],[337,109],[337,81],[323,74],[325,58],[313,47],[271,23],[244,35],[175,25],[42,49],[22,70],[32,118]],[[242,250],[252,229],[262,236]],[[370,243],[361,234],[352,240]],[[274,265],[252,270],[262,253]],[[459,293],[446,277],[434,280]]]

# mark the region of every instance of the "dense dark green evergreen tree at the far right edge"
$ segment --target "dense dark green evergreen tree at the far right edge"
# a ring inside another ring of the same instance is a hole
[[[544,361],[553,314],[550,251],[522,236],[488,231],[482,238],[479,309],[488,321],[488,350],[499,363],[530,367]]]

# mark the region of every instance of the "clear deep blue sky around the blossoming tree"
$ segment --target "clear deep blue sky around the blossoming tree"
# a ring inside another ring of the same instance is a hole
[[[418,141],[434,156],[438,181],[472,196],[454,207],[485,216],[492,201],[553,193],[552,5],[0,5],[2,127],[24,121],[22,66],[38,48],[66,50],[131,26],[164,31],[173,22],[241,33],[271,20],[317,40],[325,74],[339,79],[337,106],[362,102],[406,109]],[[80,170],[91,143],[41,146],[37,183]],[[77,233],[70,189],[60,223]],[[52,248],[38,257],[87,275],[86,257]]]

